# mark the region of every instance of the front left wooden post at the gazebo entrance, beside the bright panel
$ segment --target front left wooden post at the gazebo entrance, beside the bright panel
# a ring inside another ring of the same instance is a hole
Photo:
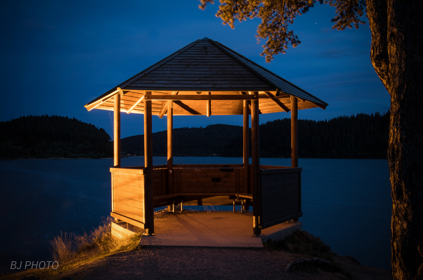
[[[146,92],[146,96],[151,91]],[[145,219],[148,224],[147,234],[154,234],[154,212],[153,212],[153,133],[151,128],[151,101],[144,101],[144,163],[147,169],[146,180],[144,181],[144,204]]]

